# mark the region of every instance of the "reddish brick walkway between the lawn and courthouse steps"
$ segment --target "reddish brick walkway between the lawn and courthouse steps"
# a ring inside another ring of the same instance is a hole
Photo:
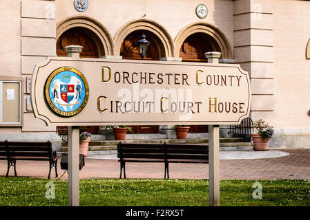
[[[281,149],[290,155],[268,159],[221,159],[221,179],[310,179],[310,149]],[[87,159],[80,171],[81,179],[119,178],[119,162],[115,159]],[[47,178],[48,162],[17,161],[19,177]],[[58,163],[59,177],[64,173]],[[6,161],[0,160],[0,176],[6,176]],[[170,164],[171,179],[207,179],[208,164]],[[11,168],[10,176],[14,175]],[[55,177],[52,170],[51,177]],[[67,173],[61,179],[67,179]],[[128,163],[127,178],[164,178],[164,164]]]

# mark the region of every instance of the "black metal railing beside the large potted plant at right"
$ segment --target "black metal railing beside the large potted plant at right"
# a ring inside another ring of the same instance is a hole
[[[233,133],[233,137],[243,137],[251,142],[251,133],[254,133],[253,121],[251,118],[244,118],[240,124],[232,124],[229,133]]]

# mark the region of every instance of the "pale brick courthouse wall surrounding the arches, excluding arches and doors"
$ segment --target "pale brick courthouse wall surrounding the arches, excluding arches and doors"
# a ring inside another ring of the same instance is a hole
[[[200,3],[209,9],[205,19],[195,14]],[[173,40],[186,25],[203,21],[224,33],[235,62],[251,75],[253,120],[267,120],[282,135],[310,134],[310,1],[92,0],[85,12],[75,10],[68,0],[12,0],[2,5],[0,74],[24,78],[25,100],[34,65],[56,55],[56,27],[63,19],[92,17],[114,38],[125,23],[143,17],[162,25]],[[35,120],[26,106],[22,109],[22,131],[55,131]]]

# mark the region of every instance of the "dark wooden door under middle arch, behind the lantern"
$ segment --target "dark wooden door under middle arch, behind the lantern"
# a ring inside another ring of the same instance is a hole
[[[142,34],[146,34],[146,40],[148,40],[151,45],[148,47],[148,52],[146,56],[143,58],[144,60],[159,60],[159,52],[156,47],[155,41],[150,37],[147,32],[142,30],[137,30],[132,32],[126,36],[122,43],[120,55],[123,56],[123,59],[131,59],[131,60],[141,60],[142,58],[139,56],[138,47],[132,47],[133,43],[139,41],[141,39]],[[133,129],[133,133],[159,133],[159,126],[157,125],[146,125],[146,126],[131,126]]]

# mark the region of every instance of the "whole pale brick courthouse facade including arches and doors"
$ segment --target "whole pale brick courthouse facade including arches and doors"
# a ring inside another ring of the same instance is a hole
[[[204,19],[195,13],[200,3],[208,9]],[[137,58],[128,53],[128,44],[145,32],[154,45],[150,59],[206,62],[203,50],[213,50],[222,53],[222,63],[239,63],[251,76],[251,118],[275,129],[270,147],[310,147],[309,1],[88,0],[84,12],[73,0],[14,0],[2,6],[1,140],[59,142],[56,128],[31,111],[29,83],[36,63],[66,56],[64,46],[72,43],[84,46],[84,57]],[[20,82],[11,118],[3,102],[10,82]]]

